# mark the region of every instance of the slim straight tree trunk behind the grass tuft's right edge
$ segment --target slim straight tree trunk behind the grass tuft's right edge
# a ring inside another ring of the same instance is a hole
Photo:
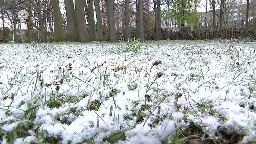
[[[145,41],[145,36],[144,36],[144,21],[143,21],[143,1],[139,1],[138,5],[138,20],[139,20],[139,37],[141,41]]]

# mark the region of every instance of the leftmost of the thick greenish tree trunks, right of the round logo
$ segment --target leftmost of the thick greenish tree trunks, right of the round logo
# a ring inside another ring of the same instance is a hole
[[[54,20],[54,42],[61,42],[65,40],[63,22],[60,13],[59,0],[50,0],[52,4],[53,20]]]

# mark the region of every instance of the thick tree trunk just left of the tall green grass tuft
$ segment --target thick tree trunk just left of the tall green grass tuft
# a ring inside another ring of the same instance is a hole
[[[113,2],[106,3],[107,21],[108,21],[108,41],[116,42],[116,28],[115,28],[115,16]]]

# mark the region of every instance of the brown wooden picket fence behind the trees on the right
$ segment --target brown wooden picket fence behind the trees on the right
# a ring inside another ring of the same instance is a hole
[[[242,22],[243,23],[243,22]],[[256,37],[256,20],[253,22],[250,22],[248,27],[246,27],[244,24],[236,23],[234,22],[228,22],[224,23],[222,26],[222,29],[219,28],[219,25],[216,25],[215,28],[213,28],[212,25],[208,26],[190,26],[190,27],[184,27],[184,29],[194,38],[197,40],[204,40],[204,39],[231,39],[238,37],[247,37],[252,36]],[[191,36],[189,36],[185,31],[181,30],[179,32],[180,28],[170,28],[170,39],[171,40],[191,40],[193,39]],[[178,32],[178,33],[177,33]],[[175,35],[176,34],[176,35]],[[136,35],[135,31],[130,32],[130,36],[134,37]],[[146,40],[155,40],[155,31],[145,31],[145,39]],[[175,36],[174,36],[175,35]],[[118,39],[124,39],[125,34],[124,33],[117,33]],[[105,39],[108,39],[108,34],[105,35]],[[167,39],[167,28],[162,28],[162,39]]]

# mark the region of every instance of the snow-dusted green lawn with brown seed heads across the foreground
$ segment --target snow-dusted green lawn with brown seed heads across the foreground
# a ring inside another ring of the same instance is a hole
[[[197,41],[1,44],[2,143],[255,143],[254,51]]]

